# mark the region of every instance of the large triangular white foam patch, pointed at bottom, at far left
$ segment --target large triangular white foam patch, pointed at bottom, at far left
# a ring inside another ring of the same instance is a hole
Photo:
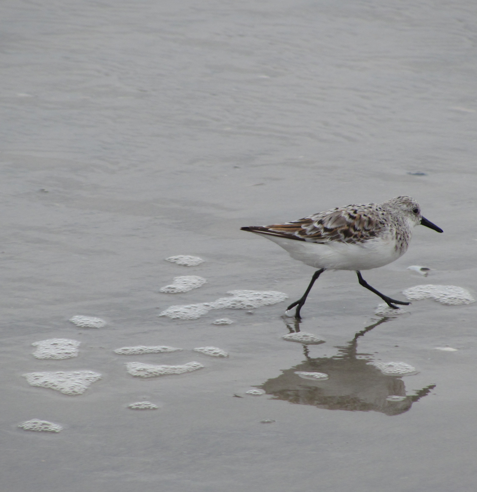
[[[83,394],[92,383],[101,379],[101,374],[92,370],[30,372],[23,375],[31,386],[51,388],[70,396]]]

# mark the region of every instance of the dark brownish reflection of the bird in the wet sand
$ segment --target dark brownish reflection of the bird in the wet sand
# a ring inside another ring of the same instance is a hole
[[[372,410],[386,415],[407,412],[414,401],[428,395],[436,385],[426,386],[415,395],[406,395],[406,387],[400,376],[382,374],[368,364],[372,360],[370,354],[357,353],[358,339],[387,320],[382,318],[356,333],[346,345],[336,347],[338,354],[333,357],[312,358],[307,345],[303,345],[305,360],[301,364],[283,370],[280,376],[258,387],[273,395],[273,400],[288,400],[329,410]],[[298,320],[293,324],[285,322],[291,333],[300,331]],[[322,372],[329,378],[303,379],[296,371]]]

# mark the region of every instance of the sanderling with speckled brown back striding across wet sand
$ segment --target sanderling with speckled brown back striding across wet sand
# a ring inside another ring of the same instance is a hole
[[[325,270],[355,270],[360,285],[377,294],[389,307],[399,309],[394,304],[410,304],[378,292],[361,276],[360,270],[397,260],[408,249],[412,228],[419,224],[443,232],[421,215],[415,200],[397,196],[380,204],[347,205],[283,224],[241,230],[260,234],[286,249],[292,258],[319,268],[305,294],[287,307],[289,311],[296,306],[295,318],[300,319],[300,309],[313,283]]]

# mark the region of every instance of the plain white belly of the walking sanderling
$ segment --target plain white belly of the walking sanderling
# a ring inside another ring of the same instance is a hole
[[[313,268],[330,270],[370,270],[397,260],[405,251],[392,240],[373,239],[367,243],[310,243],[294,239],[265,236],[286,249],[295,260]]]

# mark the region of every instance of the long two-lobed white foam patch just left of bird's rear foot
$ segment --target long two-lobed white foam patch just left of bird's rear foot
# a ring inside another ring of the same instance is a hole
[[[276,291],[230,290],[227,294],[232,294],[232,297],[221,297],[211,303],[170,306],[159,316],[171,319],[197,319],[211,309],[251,309],[270,306],[288,298],[283,292]]]

